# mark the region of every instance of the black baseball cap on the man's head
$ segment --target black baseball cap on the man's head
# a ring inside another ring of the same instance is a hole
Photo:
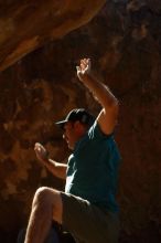
[[[84,108],[76,108],[76,109],[72,109],[67,114],[64,120],[60,120],[55,124],[58,125],[61,128],[63,128],[67,122],[77,122],[77,120],[79,120],[82,124],[92,126],[95,122],[95,117]]]

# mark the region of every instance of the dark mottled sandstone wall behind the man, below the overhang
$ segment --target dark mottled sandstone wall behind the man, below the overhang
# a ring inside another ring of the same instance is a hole
[[[75,74],[78,60],[89,56],[120,101],[120,242],[160,243],[160,1],[108,1],[87,25],[0,74],[0,242],[15,242],[36,188],[64,188],[36,161],[33,146],[41,141],[63,160],[68,150],[53,122],[74,107],[99,112]]]

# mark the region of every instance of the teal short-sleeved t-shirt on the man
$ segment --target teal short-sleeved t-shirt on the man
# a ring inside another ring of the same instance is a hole
[[[103,134],[95,122],[68,158],[65,192],[117,212],[115,196],[119,161],[112,135]]]

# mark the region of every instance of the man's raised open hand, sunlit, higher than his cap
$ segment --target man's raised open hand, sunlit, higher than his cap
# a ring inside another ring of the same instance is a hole
[[[83,81],[86,75],[89,75],[90,66],[92,66],[90,59],[80,60],[79,66],[76,66],[77,76],[80,81]]]

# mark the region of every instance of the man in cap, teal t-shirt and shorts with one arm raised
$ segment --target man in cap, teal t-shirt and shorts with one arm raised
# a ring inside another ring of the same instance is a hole
[[[42,187],[35,192],[25,243],[43,243],[52,221],[62,224],[84,243],[116,243],[119,234],[116,188],[120,156],[114,140],[118,101],[99,82],[90,60],[80,60],[78,80],[101,105],[96,118],[84,108],[69,112],[56,125],[73,150],[67,163],[52,160],[41,144],[35,144],[37,159],[56,177],[65,179],[65,192]]]

